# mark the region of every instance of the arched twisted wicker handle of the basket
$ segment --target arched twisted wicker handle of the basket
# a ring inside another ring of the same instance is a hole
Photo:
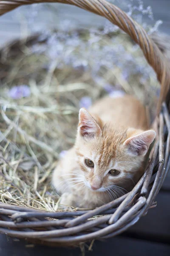
[[[138,23],[121,9],[105,0],[0,0],[0,15],[21,5],[43,2],[58,2],[78,6],[107,18],[130,35],[133,41],[142,49],[148,64],[155,70],[157,79],[161,84],[161,93],[157,105],[157,113],[159,113],[161,104],[166,99],[170,87],[170,64],[157,45],[149,38],[146,31]]]

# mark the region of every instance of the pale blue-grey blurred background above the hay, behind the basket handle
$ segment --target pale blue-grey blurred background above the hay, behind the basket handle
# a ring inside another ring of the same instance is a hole
[[[151,7],[154,20],[161,20],[162,32],[170,34],[170,1],[169,0],[109,0],[125,12],[129,11],[129,5],[139,6],[143,3],[143,9]],[[149,8],[150,9],[150,8]],[[139,15],[141,16],[141,15]],[[141,19],[141,17],[139,17]],[[148,24],[154,24],[147,13],[142,15],[142,20]],[[22,38],[35,31],[53,30],[63,28],[69,22],[69,27],[89,28],[103,26],[105,18],[93,15],[75,6],[67,6],[61,3],[42,3],[31,6],[22,6],[0,17],[0,46],[11,39]]]

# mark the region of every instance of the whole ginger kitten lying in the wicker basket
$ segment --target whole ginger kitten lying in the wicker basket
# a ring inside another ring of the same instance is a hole
[[[54,170],[60,204],[95,208],[129,192],[144,173],[156,137],[133,96],[106,96],[79,111],[75,145]]]

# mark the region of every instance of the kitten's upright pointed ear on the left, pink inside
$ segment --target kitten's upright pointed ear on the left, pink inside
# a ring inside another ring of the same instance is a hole
[[[79,111],[78,131],[82,137],[93,138],[102,135],[99,124],[85,108],[81,108]]]

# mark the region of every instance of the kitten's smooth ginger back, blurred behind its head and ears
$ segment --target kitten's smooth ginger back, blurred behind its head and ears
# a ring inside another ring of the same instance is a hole
[[[114,127],[124,126],[141,130],[149,128],[145,107],[130,95],[116,98],[106,96],[91,106],[89,111],[92,115],[98,115],[104,123],[111,123]]]

